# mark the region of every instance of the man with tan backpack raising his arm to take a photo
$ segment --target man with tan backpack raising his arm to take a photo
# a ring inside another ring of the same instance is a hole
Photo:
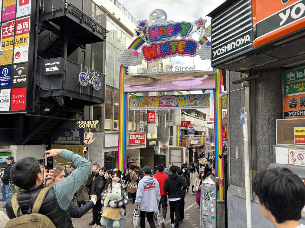
[[[16,186],[24,189],[6,202],[8,227],[71,227],[67,216],[70,201],[90,172],[91,162],[66,149],[45,152],[45,158],[59,156],[75,164],[76,169],[63,181],[45,188],[54,178],[55,170],[46,173],[34,157],[17,161],[10,171]],[[48,175],[48,177],[46,177]],[[17,217],[17,218],[16,218]]]

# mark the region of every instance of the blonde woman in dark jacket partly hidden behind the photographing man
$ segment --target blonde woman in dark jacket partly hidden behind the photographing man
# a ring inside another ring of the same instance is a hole
[[[63,170],[63,167],[61,165],[56,165],[56,170],[54,173],[54,179],[53,181],[49,184],[49,186],[53,186],[59,181],[63,181],[65,179],[65,171]],[[91,200],[86,202],[84,206],[82,207],[77,207],[74,202],[70,202],[70,205],[67,209],[68,212],[68,219],[72,225],[72,218],[79,219],[81,218],[84,214],[86,214],[93,206],[97,205],[98,199],[97,196],[92,194],[90,195]],[[73,228],[74,226],[72,225],[70,228]]]

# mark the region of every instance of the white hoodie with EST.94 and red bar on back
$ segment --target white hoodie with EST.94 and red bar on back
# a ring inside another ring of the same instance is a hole
[[[138,184],[135,205],[139,206],[140,211],[158,211],[160,197],[158,181],[153,176],[144,176]]]

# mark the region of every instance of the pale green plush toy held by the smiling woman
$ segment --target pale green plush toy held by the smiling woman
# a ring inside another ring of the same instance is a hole
[[[117,193],[117,192],[109,192],[108,195],[106,196],[105,201],[104,201],[105,208],[103,210],[102,218],[101,218],[102,226],[106,225],[106,219],[108,218],[108,219],[113,220],[113,224],[112,224],[113,228],[119,228],[120,227],[120,223],[119,223],[118,220],[119,220],[120,212],[122,212],[122,208],[121,207],[120,208],[113,208],[113,207],[110,207],[108,205],[109,201],[112,201],[112,200],[115,200],[115,199],[120,199],[120,197],[121,197],[120,194]]]

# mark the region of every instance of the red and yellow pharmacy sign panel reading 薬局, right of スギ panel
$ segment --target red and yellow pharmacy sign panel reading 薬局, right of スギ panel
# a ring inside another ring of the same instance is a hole
[[[16,20],[15,48],[29,45],[30,17]]]

